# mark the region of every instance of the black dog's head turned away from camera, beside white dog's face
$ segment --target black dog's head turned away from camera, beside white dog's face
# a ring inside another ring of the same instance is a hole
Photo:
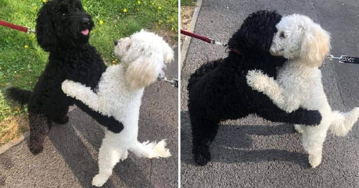
[[[241,28],[229,39],[229,48],[234,48],[242,53],[268,52],[274,33],[275,25],[282,16],[276,11],[259,10],[249,15]]]

